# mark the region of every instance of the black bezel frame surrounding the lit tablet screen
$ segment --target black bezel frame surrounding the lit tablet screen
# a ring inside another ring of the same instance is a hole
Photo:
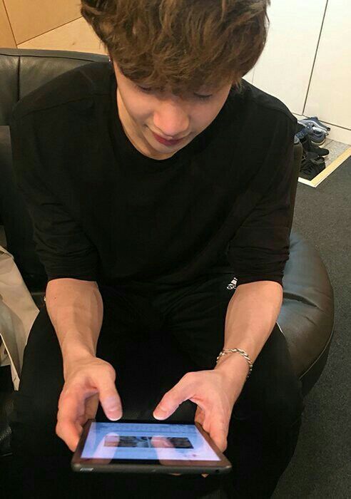
[[[91,423],[98,422],[95,419],[88,419],[83,426],[83,432],[79,439],[76,451],[73,453],[71,459],[71,468],[73,471],[81,472],[111,472],[111,473],[230,473],[232,466],[230,461],[220,452],[218,447],[213,442],[212,438],[206,433],[202,426],[195,421],[148,421],[148,420],[135,420],[135,419],[122,419],[116,423],[147,423],[147,424],[194,424],[198,431],[200,431],[205,441],[217,454],[219,461],[172,461],[171,464],[163,464],[158,459],[98,459],[98,458],[82,458],[84,444],[88,436],[88,431]],[[101,423],[114,423],[115,421],[101,421]]]

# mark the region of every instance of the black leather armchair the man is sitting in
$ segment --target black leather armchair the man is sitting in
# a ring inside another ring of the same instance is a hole
[[[14,185],[9,135],[11,110],[22,96],[61,73],[82,64],[107,60],[106,56],[93,53],[0,48],[0,224],[4,225],[6,247],[14,255],[24,282],[39,308],[44,306],[46,275],[34,250],[31,220]],[[295,145],[296,177],[301,158],[302,146],[299,143]],[[334,325],[334,300],[330,279],[317,251],[293,230],[290,242],[290,259],[283,281],[284,301],[278,324],[288,341],[295,372],[302,380],[305,395],[319,378],[327,361]],[[181,352],[170,355],[169,348],[175,350],[176,346],[156,344],[148,349],[148,354],[153,351],[158,362],[167,359],[160,364],[160,373],[168,370],[177,379],[177,373],[183,372],[188,361]],[[173,364],[172,358],[176,359]],[[132,381],[135,405],[129,409],[128,415],[125,414],[130,418],[140,415],[150,405],[147,380],[145,386],[138,389]],[[8,418],[12,410],[12,393],[9,368],[0,367],[0,457],[3,456],[3,460],[4,456],[8,456],[6,459],[11,456]],[[186,411],[189,417],[190,406],[185,407]]]

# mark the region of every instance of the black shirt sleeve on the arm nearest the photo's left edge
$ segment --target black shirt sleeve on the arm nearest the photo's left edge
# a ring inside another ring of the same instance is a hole
[[[10,133],[16,185],[33,222],[36,253],[48,282],[62,277],[96,281],[98,251],[50,187],[29,116],[13,113]]]

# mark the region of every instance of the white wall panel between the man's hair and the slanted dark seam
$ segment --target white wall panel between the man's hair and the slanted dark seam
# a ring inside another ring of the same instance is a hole
[[[253,84],[302,114],[327,0],[272,0],[270,30]]]

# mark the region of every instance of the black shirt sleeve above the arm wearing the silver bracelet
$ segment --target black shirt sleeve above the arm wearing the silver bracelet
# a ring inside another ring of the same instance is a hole
[[[288,121],[288,120],[287,120]],[[278,282],[283,287],[289,258],[290,231],[298,172],[294,163],[295,125],[283,125],[275,148],[273,175],[262,197],[235,232],[227,257],[237,285],[256,281]]]

